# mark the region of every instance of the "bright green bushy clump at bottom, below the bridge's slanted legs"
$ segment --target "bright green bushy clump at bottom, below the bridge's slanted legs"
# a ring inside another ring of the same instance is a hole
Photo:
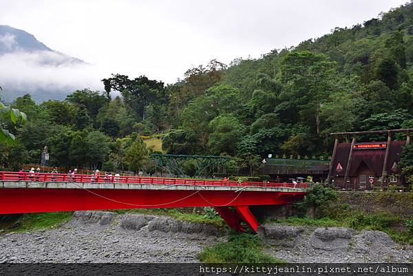
[[[264,248],[259,237],[248,233],[231,233],[228,242],[220,242],[198,254],[198,259],[207,263],[271,263],[284,264],[262,252]]]

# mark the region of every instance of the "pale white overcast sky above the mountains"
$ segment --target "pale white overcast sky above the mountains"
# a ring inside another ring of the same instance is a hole
[[[257,58],[405,1],[0,0],[0,25],[91,63],[96,78],[145,74],[173,83],[191,65]]]

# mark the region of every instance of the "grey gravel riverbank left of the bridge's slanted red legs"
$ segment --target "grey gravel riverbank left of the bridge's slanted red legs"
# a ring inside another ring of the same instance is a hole
[[[1,235],[0,262],[197,262],[223,239],[206,231],[167,217],[76,212],[56,229]]]

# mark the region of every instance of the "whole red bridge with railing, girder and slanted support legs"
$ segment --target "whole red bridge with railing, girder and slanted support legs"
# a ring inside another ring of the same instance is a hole
[[[0,171],[0,213],[214,207],[237,231],[257,231],[251,205],[301,200],[308,184]]]

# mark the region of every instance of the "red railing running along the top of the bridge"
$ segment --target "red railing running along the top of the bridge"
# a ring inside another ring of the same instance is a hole
[[[276,182],[237,182],[233,180],[202,180],[187,178],[151,178],[142,176],[100,176],[90,174],[67,173],[28,173],[0,171],[0,181],[32,181],[32,182],[80,182],[80,183],[127,183],[127,184],[166,184],[166,185],[202,185],[202,186],[253,186],[253,187],[286,187],[308,188],[308,183],[276,183]]]

